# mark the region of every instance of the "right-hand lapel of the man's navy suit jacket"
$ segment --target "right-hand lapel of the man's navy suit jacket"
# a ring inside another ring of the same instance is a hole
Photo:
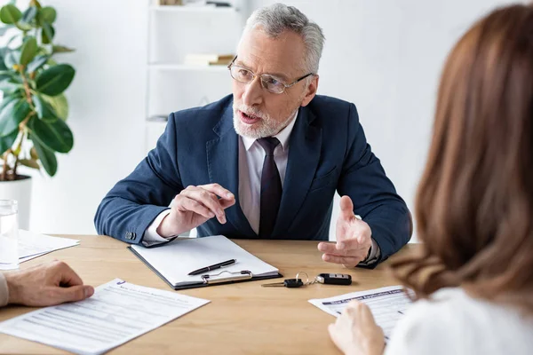
[[[289,237],[282,233],[289,230],[290,223],[306,199],[320,160],[322,130],[309,124],[313,122],[314,114],[308,108],[301,107],[299,111],[290,134],[289,159],[283,182],[282,202],[273,232],[276,237]]]

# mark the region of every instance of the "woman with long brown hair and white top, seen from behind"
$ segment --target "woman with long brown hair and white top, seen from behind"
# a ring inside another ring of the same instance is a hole
[[[330,326],[346,354],[533,352],[533,5],[497,9],[449,54],[416,203],[418,302],[385,348],[369,308]]]

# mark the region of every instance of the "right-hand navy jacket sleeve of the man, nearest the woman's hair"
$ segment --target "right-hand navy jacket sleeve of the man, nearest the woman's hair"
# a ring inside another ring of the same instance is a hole
[[[410,212],[386,177],[379,159],[372,153],[354,104],[348,112],[347,130],[347,149],[338,180],[338,193],[348,195],[354,202],[354,213],[370,225],[381,255],[375,264],[367,267],[375,267],[410,240]]]

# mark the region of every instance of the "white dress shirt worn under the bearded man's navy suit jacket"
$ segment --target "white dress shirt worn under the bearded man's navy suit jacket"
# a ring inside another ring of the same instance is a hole
[[[278,138],[280,144],[274,149],[274,162],[280,173],[280,178],[285,180],[287,171],[287,161],[289,158],[290,133],[298,117],[298,111],[290,123],[278,134],[273,136]],[[240,136],[239,139],[239,203],[243,209],[244,216],[248,219],[251,229],[259,234],[260,196],[261,196],[261,174],[263,172],[263,162],[265,161],[265,150],[259,145],[257,139]],[[224,187],[224,186],[222,186]],[[170,209],[161,212],[148,226],[143,238],[145,246],[159,244],[168,241],[157,233],[157,227],[163,218],[170,213]],[[378,243],[372,239],[370,257],[367,263],[375,261],[379,254]]]

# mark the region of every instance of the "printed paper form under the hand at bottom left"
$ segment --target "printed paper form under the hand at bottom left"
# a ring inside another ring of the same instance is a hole
[[[29,312],[0,332],[80,354],[101,354],[210,301],[115,279],[84,301]]]

